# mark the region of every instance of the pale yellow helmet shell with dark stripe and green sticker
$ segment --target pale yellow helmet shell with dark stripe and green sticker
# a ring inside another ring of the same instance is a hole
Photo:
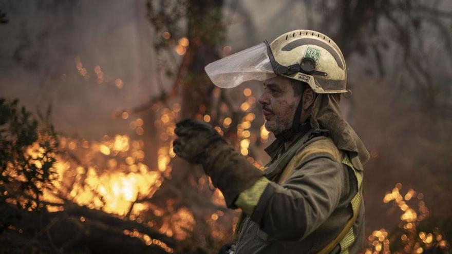
[[[306,82],[316,93],[347,92],[344,56],[328,36],[294,30],[265,43],[276,74]]]

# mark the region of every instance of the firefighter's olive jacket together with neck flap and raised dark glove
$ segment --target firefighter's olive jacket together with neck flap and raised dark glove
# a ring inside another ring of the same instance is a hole
[[[264,171],[211,126],[193,120],[177,124],[175,152],[202,164],[227,206],[245,214],[237,225],[234,254],[356,253],[361,248],[363,165],[369,153],[342,118],[339,99],[340,94],[318,94],[311,128],[287,149],[282,140],[271,144]]]

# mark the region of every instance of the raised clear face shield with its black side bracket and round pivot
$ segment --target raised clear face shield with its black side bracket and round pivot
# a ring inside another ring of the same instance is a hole
[[[291,75],[296,72],[327,75],[315,71],[315,61],[303,57],[300,63],[283,66],[276,62],[267,41],[221,58],[204,67],[212,83],[221,88],[233,88],[250,80],[265,81],[276,75]]]

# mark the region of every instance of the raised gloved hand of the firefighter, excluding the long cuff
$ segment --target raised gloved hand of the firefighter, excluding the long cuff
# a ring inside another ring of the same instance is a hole
[[[174,152],[192,164],[203,163],[209,146],[226,143],[218,132],[204,121],[187,119],[176,124]]]

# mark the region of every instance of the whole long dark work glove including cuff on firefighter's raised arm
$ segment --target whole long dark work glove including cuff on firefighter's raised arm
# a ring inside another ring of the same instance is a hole
[[[174,132],[178,135],[173,142],[174,152],[203,166],[212,184],[223,193],[228,207],[236,208],[234,202],[239,194],[264,175],[203,121],[183,120],[176,124]]]

